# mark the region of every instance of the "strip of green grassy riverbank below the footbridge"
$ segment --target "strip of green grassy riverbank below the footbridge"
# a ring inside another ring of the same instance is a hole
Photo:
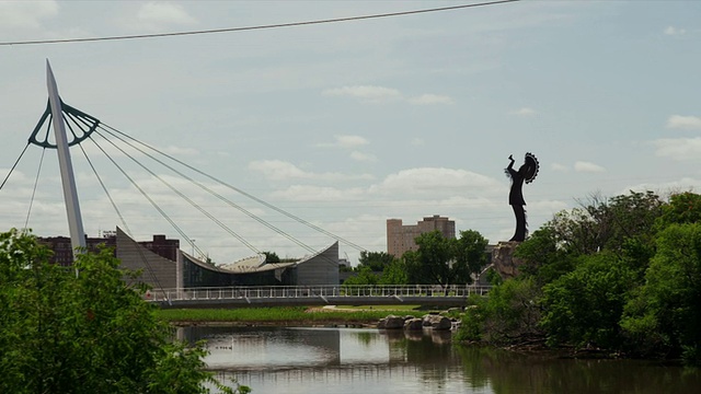
[[[245,308],[158,310],[157,315],[175,325],[198,323],[269,325],[369,325],[389,314],[421,316],[426,311],[405,306],[372,308]]]

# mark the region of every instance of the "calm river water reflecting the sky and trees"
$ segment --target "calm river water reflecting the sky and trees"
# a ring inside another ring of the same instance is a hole
[[[686,394],[701,370],[640,360],[573,360],[451,344],[450,333],[366,328],[187,327],[209,368],[253,394]]]

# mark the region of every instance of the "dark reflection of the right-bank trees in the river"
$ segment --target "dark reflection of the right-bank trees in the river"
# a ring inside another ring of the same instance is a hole
[[[635,360],[573,360],[483,347],[457,347],[466,379],[495,394],[515,392],[657,394],[698,393],[701,371]]]

